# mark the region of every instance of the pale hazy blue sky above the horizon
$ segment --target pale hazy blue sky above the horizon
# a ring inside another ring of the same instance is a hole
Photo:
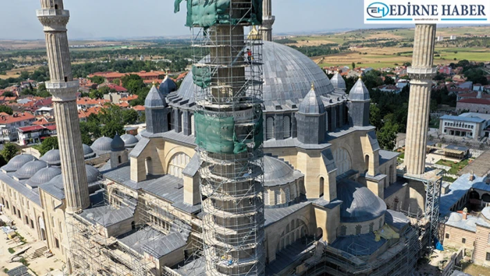
[[[39,0],[0,0],[0,39],[43,39]],[[188,35],[185,2],[174,0],[64,0],[70,39]],[[363,28],[362,0],[273,0],[274,33]],[[370,26],[371,28],[375,26]],[[386,27],[386,26],[384,26]]]

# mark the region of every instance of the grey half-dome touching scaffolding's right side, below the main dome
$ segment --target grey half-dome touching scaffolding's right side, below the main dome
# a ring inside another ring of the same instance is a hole
[[[284,161],[264,156],[264,186],[283,185],[296,181],[302,175]]]

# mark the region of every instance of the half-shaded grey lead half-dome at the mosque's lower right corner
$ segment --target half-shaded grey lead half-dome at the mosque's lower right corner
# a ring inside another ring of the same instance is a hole
[[[342,222],[371,221],[381,217],[386,211],[386,204],[382,199],[354,181],[337,182],[337,197],[343,201]]]

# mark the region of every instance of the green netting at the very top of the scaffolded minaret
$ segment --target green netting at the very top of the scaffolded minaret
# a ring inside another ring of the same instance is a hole
[[[174,12],[181,10],[180,4],[184,0],[175,0]],[[252,25],[262,24],[262,0],[251,0],[252,11],[245,17],[230,18],[231,0],[186,0],[187,21],[185,26],[209,28],[215,24],[239,24],[248,22]]]

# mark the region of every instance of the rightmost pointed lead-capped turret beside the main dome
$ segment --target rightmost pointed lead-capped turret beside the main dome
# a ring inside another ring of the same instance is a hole
[[[369,123],[370,96],[368,88],[359,77],[349,93],[349,122],[356,127],[366,127]]]

